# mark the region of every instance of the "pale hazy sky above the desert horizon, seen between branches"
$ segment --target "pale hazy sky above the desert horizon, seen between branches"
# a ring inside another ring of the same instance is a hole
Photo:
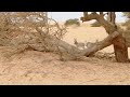
[[[82,12],[49,12],[49,16],[54,18],[55,20],[65,22],[69,18],[80,18],[82,16]],[[121,12],[116,12],[117,14],[117,23],[122,23],[126,18],[122,16]]]

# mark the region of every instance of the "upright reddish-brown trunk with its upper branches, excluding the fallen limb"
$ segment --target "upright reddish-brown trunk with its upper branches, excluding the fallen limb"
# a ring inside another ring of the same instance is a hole
[[[83,12],[84,16],[81,17],[82,22],[96,19],[106,30],[108,34],[114,33],[117,31],[119,34],[112,40],[112,43],[114,44],[114,51],[117,61],[128,61],[128,47],[126,46],[126,39],[122,37],[121,32],[117,29],[115,19],[116,14],[115,12],[108,12],[108,18],[104,18],[103,12],[100,12],[98,14],[96,12],[93,12],[91,14],[88,14],[88,12]]]

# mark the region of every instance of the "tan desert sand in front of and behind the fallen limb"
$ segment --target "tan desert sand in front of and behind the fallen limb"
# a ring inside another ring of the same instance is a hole
[[[104,39],[102,27],[69,27],[64,40],[70,44],[78,41]],[[2,48],[0,48],[2,51]],[[112,53],[113,46],[102,50]],[[130,53],[129,53],[130,54]],[[5,60],[0,56],[1,85],[117,85],[130,84],[130,64],[108,59],[83,57],[79,61],[61,61],[58,55],[26,51]]]

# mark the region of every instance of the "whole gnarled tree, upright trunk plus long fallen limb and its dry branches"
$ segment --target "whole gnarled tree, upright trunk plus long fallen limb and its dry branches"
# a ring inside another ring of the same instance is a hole
[[[118,30],[118,27],[116,26],[115,12],[108,12],[108,19],[104,18],[105,14],[103,12],[100,12],[100,14],[96,12],[92,12],[90,14],[88,14],[88,12],[83,12],[83,17],[81,17],[82,22],[95,19],[105,28],[106,32],[108,33],[107,38],[84,50],[79,50],[55,36],[63,34],[63,29],[60,28],[55,20],[54,22],[58,30],[54,32],[52,32],[53,30],[49,30],[50,26],[44,24],[43,12],[13,12],[9,14],[8,15],[11,18],[12,24],[20,29],[29,29],[27,30],[28,32],[35,30],[35,33],[29,33],[28,36],[31,38],[28,38],[28,40],[23,39],[22,41],[24,42],[17,43],[17,45],[22,43],[26,44],[24,48],[32,47],[37,51],[55,51],[60,52],[60,54],[63,56],[67,54],[73,59],[76,59],[80,56],[90,56],[95,52],[114,44],[116,60],[119,63],[128,61],[128,47],[126,45],[126,39],[122,37],[120,30]],[[46,28],[46,30],[42,30],[43,28]],[[23,51],[23,48],[17,50]]]

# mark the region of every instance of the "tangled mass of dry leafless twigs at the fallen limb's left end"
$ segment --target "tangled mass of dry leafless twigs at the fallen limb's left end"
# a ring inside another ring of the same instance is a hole
[[[49,37],[62,40],[67,32],[65,26],[61,27],[56,20],[47,18],[43,12],[4,12],[0,13],[0,45],[6,46],[2,52],[6,58],[28,47],[51,51],[56,45]]]

